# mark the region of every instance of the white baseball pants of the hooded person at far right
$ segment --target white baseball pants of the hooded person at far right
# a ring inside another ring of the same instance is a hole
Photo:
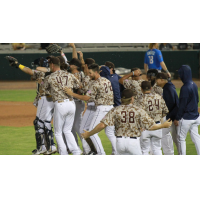
[[[178,151],[180,155],[186,155],[186,142],[187,133],[189,131],[192,142],[195,144],[197,154],[200,155],[200,135],[198,133],[198,126],[200,125],[200,117],[196,120],[185,120],[179,121],[178,131]]]

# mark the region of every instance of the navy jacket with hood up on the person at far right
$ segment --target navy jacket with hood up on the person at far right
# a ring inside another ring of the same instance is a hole
[[[179,96],[179,110],[176,120],[186,119],[195,120],[198,118],[198,87],[192,81],[192,71],[188,65],[182,65],[178,70],[178,74],[184,83],[181,87]]]

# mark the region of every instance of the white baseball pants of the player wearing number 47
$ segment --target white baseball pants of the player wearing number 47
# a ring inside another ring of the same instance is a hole
[[[60,155],[68,155],[67,146],[72,154],[81,154],[73,133],[71,132],[74,123],[75,110],[76,107],[74,101],[65,99],[63,102],[55,102],[54,132]],[[62,134],[65,136],[67,146]]]

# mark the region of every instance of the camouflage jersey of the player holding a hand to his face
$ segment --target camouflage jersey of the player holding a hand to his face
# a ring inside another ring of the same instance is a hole
[[[134,97],[135,99],[138,99],[143,93],[141,90],[141,83],[144,80],[130,80],[130,79],[126,79],[123,82],[123,85],[126,89],[132,89],[137,95]]]

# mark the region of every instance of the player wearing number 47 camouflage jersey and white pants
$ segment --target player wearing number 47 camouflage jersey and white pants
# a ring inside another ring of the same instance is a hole
[[[73,98],[66,95],[63,88],[67,86],[71,89],[78,89],[81,87],[81,83],[73,74],[60,70],[58,58],[51,56],[49,66],[53,73],[44,83],[44,88],[50,90],[54,102],[54,131],[59,153],[68,155],[68,146],[74,155],[80,155],[81,152],[71,132],[76,106]],[[64,134],[66,141],[64,141],[62,134]]]

